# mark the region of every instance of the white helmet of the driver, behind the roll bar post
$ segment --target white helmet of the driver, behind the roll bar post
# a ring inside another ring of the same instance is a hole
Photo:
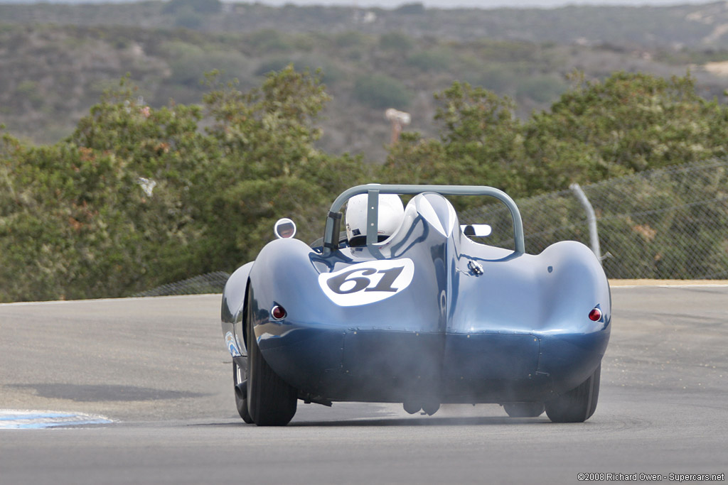
[[[352,246],[363,244],[366,240],[367,228],[367,203],[368,194],[360,193],[353,196],[347,204],[347,215],[344,222],[347,225],[347,239]],[[379,227],[377,238],[379,241],[386,239],[397,231],[405,215],[400,196],[395,193],[379,194]],[[358,244],[352,244],[352,239],[357,238]]]

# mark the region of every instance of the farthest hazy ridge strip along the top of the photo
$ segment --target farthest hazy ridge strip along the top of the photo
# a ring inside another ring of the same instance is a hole
[[[559,44],[728,46],[724,1],[676,7],[563,7],[558,9],[397,9],[355,7],[266,7],[218,0],[145,1],[135,4],[0,4],[5,23],[186,27],[209,32],[273,28],[293,32],[358,31]]]

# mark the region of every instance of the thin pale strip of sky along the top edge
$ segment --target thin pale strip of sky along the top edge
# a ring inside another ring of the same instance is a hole
[[[427,7],[563,7],[564,5],[678,5],[705,4],[710,0],[257,0],[268,5],[346,5],[357,7],[396,7],[422,3]]]

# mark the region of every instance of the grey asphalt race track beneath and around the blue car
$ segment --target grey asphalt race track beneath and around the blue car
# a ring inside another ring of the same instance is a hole
[[[427,417],[336,403],[299,404],[287,427],[256,428],[234,409],[217,295],[0,305],[0,410],[114,420],[0,429],[0,484],[571,484],[579,473],[663,482],[728,473],[728,287],[612,293],[596,414],[560,425],[511,419],[497,405]]]

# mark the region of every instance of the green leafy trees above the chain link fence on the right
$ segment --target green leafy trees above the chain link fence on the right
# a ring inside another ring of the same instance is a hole
[[[689,74],[572,80],[549,111],[523,122],[507,97],[454,83],[435,95],[440,139],[405,133],[390,148],[388,177],[530,196],[727,153],[728,109],[697,95]]]

